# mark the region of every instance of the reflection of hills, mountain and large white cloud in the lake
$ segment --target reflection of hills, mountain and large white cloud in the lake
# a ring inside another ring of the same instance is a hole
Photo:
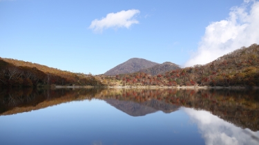
[[[2,90],[0,121],[2,115],[97,99],[135,117],[182,110],[197,124],[205,144],[259,144],[258,94],[257,89]]]

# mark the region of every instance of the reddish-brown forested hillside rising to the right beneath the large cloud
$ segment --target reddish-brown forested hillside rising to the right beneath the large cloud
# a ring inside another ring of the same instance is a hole
[[[151,76],[144,72],[117,75],[122,85],[259,86],[259,45],[242,47],[207,65],[195,65]]]

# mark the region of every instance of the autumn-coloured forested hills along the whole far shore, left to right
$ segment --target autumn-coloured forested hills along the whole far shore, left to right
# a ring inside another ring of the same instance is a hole
[[[135,59],[133,59],[135,60]],[[147,60],[144,60],[146,62]],[[135,61],[130,64],[134,67]],[[143,63],[143,62],[142,62]],[[150,63],[150,64],[149,64]],[[259,86],[259,45],[242,47],[207,65],[195,65],[184,69],[152,75],[157,65],[148,69],[151,73],[135,72],[116,76],[92,76],[46,67],[36,63],[0,58],[0,86],[42,87],[55,85],[159,85],[159,86]],[[143,64],[142,64],[143,65]],[[166,68],[164,65],[164,69]],[[135,66],[140,69],[139,65]],[[147,66],[147,65],[146,65]],[[142,66],[143,67],[143,66]],[[155,68],[155,69],[152,69]],[[158,67],[160,70],[161,67]]]

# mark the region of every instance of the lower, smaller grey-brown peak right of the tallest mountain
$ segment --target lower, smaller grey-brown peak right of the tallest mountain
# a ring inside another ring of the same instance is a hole
[[[155,65],[153,67],[149,67],[147,69],[140,69],[140,72],[144,72],[146,74],[157,75],[164,74],[166,71],[172,71],[175,69],[181,69],[179,65],[171,62],[165,62],[160,65]]]

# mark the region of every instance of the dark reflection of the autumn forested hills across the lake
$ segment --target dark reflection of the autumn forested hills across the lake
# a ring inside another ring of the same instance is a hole
[[[0,115],[81,100],[115,99],[140,104],[158,100],[160,104],[210,111],[237,126],[258,131],[258,94],[258,89],[0,89]]]

